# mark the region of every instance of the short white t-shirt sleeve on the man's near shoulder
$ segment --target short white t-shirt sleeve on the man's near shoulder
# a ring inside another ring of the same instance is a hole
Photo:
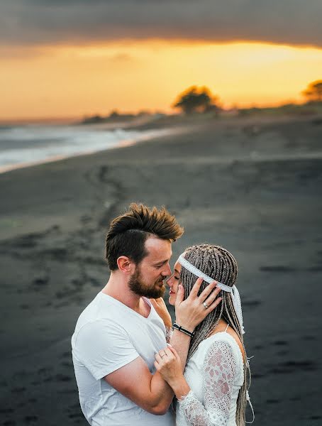
[[[79,329],[73,355],[96,380],[139,356],[126,331],[110,320],[89,322]]]

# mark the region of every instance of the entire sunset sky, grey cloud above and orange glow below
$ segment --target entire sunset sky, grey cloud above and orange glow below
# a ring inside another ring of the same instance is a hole
[[[301,102],[322,79],[320,0],[11,0],[0,4],[0,120]]]

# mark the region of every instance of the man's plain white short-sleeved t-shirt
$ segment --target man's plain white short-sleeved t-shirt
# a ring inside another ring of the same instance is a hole
[[[100,292],[79,316],[72,336],[72,359],[79,402],[92,426],[174,425],[170,411],[148,413],[104,380],[138,356],[155,373],[155,353],[167,345],[165,325],[150,300],[145,300],[151,306],[148,318]]]

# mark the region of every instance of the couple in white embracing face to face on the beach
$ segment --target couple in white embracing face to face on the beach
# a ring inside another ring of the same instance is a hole
[[[237,263],[187,248],[166,209],[131,204],[106,236],[109,282],[72,336],[79,401],[92,426],[241,426],[248,398]],[[170,288],[172,320],[162,296]]]

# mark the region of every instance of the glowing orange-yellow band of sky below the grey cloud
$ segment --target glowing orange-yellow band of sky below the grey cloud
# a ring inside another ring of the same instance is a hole
[[[187,87],[207,86],[223,106],[300,102],[322,77],[322,50],[266,43],[143,40],[0,48],[0,119],[171,111]]]

